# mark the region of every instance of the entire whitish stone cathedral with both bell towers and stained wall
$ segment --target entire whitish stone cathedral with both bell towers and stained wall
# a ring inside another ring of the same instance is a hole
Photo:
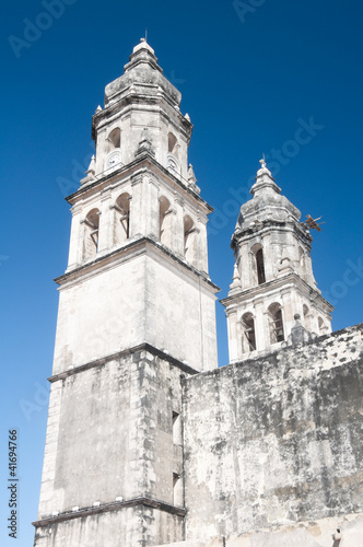
[[[362,330],[331,334],[309,226],[265,161],[232,237],[218,368],[192,125],[145,40],[67,199],[36,547],[358,547]],[[361,539],[360,539],[361,538]]]

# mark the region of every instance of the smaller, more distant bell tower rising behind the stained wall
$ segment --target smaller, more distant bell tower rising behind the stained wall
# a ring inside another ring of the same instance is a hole
[[[278,349],[286,342],[294,316],[313,335],[331,331],[333,307],[313,275],[313,237],[301,212],[276,184],[265,160],[241,207],[231,246],[235,267],[225,306],[230,362]]]

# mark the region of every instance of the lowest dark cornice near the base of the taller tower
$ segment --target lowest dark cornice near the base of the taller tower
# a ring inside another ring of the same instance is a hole
[[[65,511],[63,513],[59,513],[54,516],[45,516],[39,521],[33,522],[33,526],[36,528],[40,526],[48,526],[51,524],[58,524],[60,522],[70,521],[73,519],[81,519],[84,516],[90,516],[99,513],[107,513],[109,511],[118,511],[124,508],[132,508],[143,505],[147,508],[157,509],[165,513],[175,514],[178,516],[185,516],[186,510],[183,508],[177,508],[175,505],[171,505],[169,503],[165,503],[163,501],[153,500],[148,497],[133,498],[132,500],[122,500],[122,501],[113,501],[110,503],[103,503],[98,507],[87,507],[79,509],[78,511]]]

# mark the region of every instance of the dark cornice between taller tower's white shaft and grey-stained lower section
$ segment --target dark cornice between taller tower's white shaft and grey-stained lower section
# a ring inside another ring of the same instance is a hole
[[[194,375],[198,374],[199,371],[196,369],[192,369],[192,366],[189,366],[189,364],[186,364],[178,359],[175,359],[174,357],[169,356],[168,353],[165,353],[165,351],[155,348],[151,344],[144,342],[140,344],[139,346],[134,346],[133,348],[128,348],[121,351],[117,351],[115,353],[110,353],[109,356],[102,357],[99,359],[95,359],[94,361],[90,361],[87,363],[79,364],[77,366],[73,366],[72,369],[68,369],[67,371],[60,372],[59,374],[54,374],[52,376],[48,377],[48,382],[51,384],[54,382],[59,382],[60,380],[65,380],[69,376],[73,376],[74,374],[79,374],[80,372],[87,371],[90,369],[94,369],[95,366],[99,366],[103,364],[106,364],[110,361],[115,361],[117,359],[122,359],[124,357],[131,356],[141,351],[148,351],[149,353],[159,357],[160,359],[163,359],[164,361],[167,361],[168,363],[177,366],[183,372]]]

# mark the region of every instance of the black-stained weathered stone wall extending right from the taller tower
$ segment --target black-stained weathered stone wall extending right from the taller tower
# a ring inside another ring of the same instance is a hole
[[[187,540],[363,509],[362,330],[186,379]]]

